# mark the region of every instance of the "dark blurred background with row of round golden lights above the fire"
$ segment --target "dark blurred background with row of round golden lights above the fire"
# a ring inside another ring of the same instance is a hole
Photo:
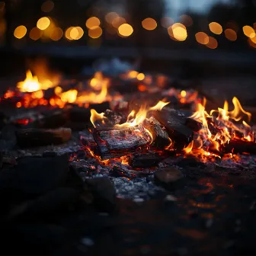
[[[255,13],[255,0],[6,0],[0,75],[24,75],[42,56],[69,75],[117,57],[213,94],[243,86],[254,101]]]

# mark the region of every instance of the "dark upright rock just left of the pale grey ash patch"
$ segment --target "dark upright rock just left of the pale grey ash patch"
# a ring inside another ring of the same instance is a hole
[[[94,204],[101,212],[113,212],[116,207],[116,191],[109,178],[91,178],[85,180],[94,197]]]

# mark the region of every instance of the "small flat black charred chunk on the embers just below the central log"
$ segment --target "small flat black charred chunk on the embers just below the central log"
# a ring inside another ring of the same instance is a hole
[[[133,168],[149,168],[158,165],[158,162],[162,160],[161,156],[155,152],[149,152],[146,154],[135,154],[131,160],[131,166]]]

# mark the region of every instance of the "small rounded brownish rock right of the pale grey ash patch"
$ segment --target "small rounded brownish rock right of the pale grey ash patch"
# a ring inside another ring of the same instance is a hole
[[[168,167],[155,171],[155,182],[163,186],[174,184],[184,178],[184,175],[178,168]]]

